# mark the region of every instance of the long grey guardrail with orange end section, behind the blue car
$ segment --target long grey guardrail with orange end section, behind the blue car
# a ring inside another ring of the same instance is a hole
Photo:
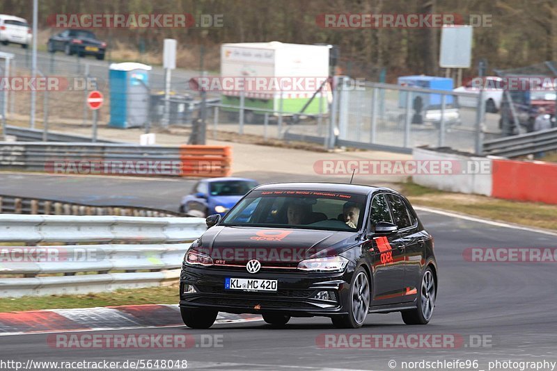
[[[226,146],[0,142],[0,170],[128,176],[228,176]]]

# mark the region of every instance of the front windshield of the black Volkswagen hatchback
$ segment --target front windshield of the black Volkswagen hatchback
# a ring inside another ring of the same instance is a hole
[[[242,199],[221,225],[359,230],[365,195],[317,190],[256,190]]]

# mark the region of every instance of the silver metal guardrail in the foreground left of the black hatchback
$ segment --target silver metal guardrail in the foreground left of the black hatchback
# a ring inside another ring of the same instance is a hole
[[[0,296],[172,283],[205,229],[197,217],[0,215]]]

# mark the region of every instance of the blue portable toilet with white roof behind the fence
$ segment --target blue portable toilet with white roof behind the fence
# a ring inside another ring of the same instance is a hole
[[[149,71],[143,63],[112,63],[109,67],[110,122],[120,129],[144,126],[149,120]]]

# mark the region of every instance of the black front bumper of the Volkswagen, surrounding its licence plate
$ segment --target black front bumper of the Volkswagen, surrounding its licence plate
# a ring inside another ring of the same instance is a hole
[[[285,272],[287,271],[287,272]],[[226,290],[230,278],[276,279],[276,292]],[[212,308],[226,313],[283,313],[292,317],[345,314],[352,272],[308,273],[297,270],[269,270],[249,274],[245,269],[224,267],[182,267],[180,274],[180,307]],[[196,292],[184,293],[185,285]],[[315,299],[327,291],[334,300]]]

